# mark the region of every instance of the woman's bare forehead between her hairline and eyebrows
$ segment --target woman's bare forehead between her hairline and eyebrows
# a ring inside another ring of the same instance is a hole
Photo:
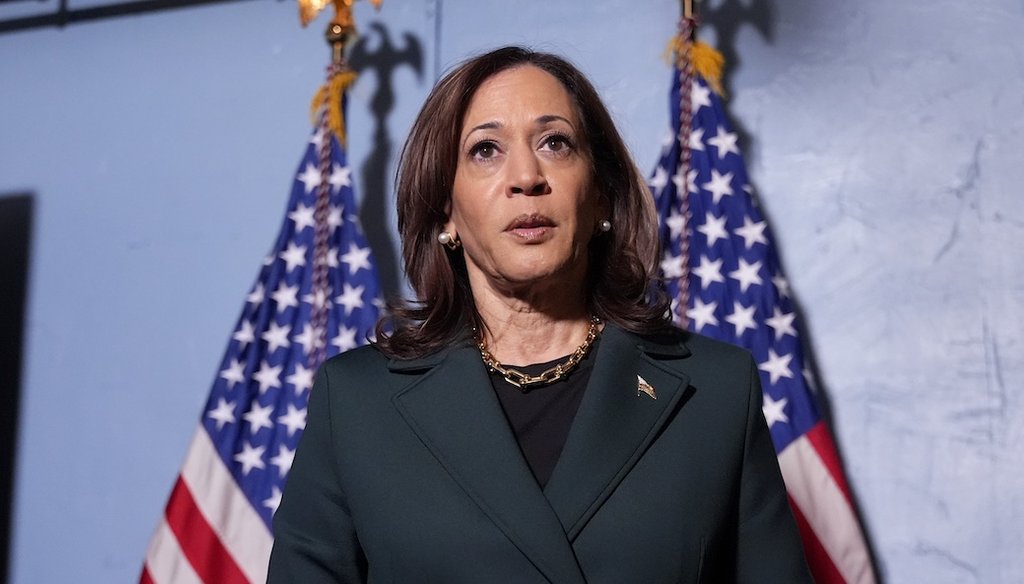
[[[487,121],[534,120],[558,115],[577,125],[577,108],[558,79],[543,69],[523,65],[488,77],[473,93],[463,128]]]

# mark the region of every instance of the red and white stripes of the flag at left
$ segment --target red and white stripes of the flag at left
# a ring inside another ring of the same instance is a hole
[[[150,542],[141,584],[262,583],[272,544],[201,426]]]

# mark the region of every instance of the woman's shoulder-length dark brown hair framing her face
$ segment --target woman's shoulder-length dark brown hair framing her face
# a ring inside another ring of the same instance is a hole
[[[609,233],[590,244],[591,312],[637,333],[669,325],[669,301],[651,285],[658,259],[657,220],[647,184],[594,86],[571,64],[544,52],[504,47],[470,58],[444,76],[427,97],[398,165],[397,212],[406,275],[413,302],[390,306],[377,324],[377,346],[387,356],[415,359],[466,337],[480,327],[462,250],[437,243],[447,220],[459,160],[463,118],[476,90],[494,75],[532,66],[568,92],[590,153],[593,185],[611,211]]]

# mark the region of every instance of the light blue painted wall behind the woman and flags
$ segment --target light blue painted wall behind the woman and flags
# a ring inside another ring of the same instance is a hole
[[[740,60],[729,108],[884,573],[1024,581],[1024,3],[706,4]],[[37,211],[15,584],[137,578],[309,129],[326,20],[302,30],[295,12],[0,35],[0,194],[32,192]],[[394,73],[393,142],[438,69],[526,43],[591,75],[644,169],[677,14],[670,0],[357,11],[423,47],[422,79]],[[378,83],[367,72],[351,94],[356,165]]]

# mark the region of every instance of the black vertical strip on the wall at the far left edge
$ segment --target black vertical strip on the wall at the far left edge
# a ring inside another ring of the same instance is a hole
[[[8,581],[10,567],[32,204],[31,195],[0,195],[0,583]]]

